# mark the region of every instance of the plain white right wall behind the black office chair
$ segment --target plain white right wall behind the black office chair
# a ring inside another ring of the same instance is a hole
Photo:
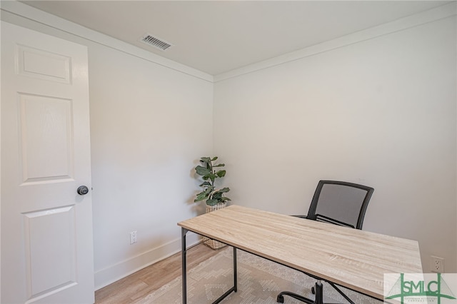
[[[455,16],[316,53],[215,84],[233,203],[306,214],[319,179],[373,186],[364,228],[456,272]]]

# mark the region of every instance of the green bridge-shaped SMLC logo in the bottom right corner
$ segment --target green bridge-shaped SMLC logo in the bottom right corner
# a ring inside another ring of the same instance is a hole
[[[406,280],[405,274],[401,273],[400,278],[396,280],[396,283],[386,295],[386,299],[397,298],[401,301],[401,304],[404,304],[406,303],[406,297],[409,299],[408,303],[423,302],[418,297],[427,297],[428,300],[436,298],[438,304],[441,304],[442,298],[456,300],[456,296],[441,277],[441,273],[436,274],[436,280],[434,278],[432,280]],[[411,297],[416,297],[416,299]]]

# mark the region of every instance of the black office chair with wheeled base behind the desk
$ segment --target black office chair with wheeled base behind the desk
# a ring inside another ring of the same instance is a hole
[[[313,221],[331,223],[339,226],[362,229],[363,218],[374,189],[357,183],[345,181],[319,181],[316,192],[314,192],[311,206],[307,216],[297,216]],[[307,275],[309,275],[307,273]],[[305,298],[302,295],[283,291],[276,298],[278,303],[284,303],[284,295],[288,295],[308,304],[323,304],[323,290],[321,278],[310,275],[317,280],[311,291],[316,295],[314,300]],[[326,281],[340,293],[349,303],[353,301],[348,298],[335,284]]]

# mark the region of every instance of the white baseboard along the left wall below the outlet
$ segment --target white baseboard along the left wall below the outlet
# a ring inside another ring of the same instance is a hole
[[[186,236],[187,247],[199,243],[200,237],[194,233],[191,233]],[[169,243],[161,245],[156,248],[152,248],[144,253],[136,255],[128,260],[124,260],[120,263],[116,263],[107,268],[98,270],[94,273],[95,276],[95,290],[104,288],[105,286],[116,282],[116,280],[121,280],[127,275],[136,273],[136,271],[141,270],[149,265],[159,262],[159,260],[164,260],[175,253],[181,251],[181,238],[172,240]]]

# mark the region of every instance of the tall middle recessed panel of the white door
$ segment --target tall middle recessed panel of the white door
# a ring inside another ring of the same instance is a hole
[[[19,102],[24,183],[73,178],[71,100],[19,93]]]

